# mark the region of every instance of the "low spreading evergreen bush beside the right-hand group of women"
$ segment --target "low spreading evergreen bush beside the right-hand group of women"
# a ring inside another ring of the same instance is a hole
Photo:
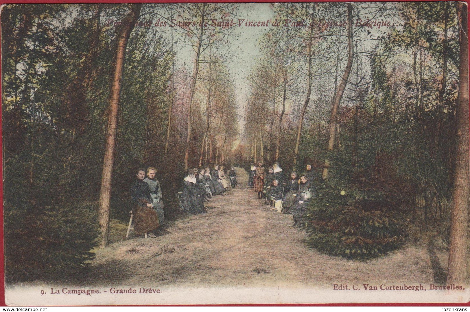
[[[330,255],[370,259],[405,241],[407,228],[399,215],[378,210],[380,204],[390,204],[391,194],[331,184],[320,186],[316,194],[303,224],[309,246]]]

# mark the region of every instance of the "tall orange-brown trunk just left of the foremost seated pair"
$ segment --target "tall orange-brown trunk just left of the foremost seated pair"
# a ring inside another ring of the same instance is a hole
[[[142,4],[132,4],[131,11],[125,16],[121,33],[119,34],[118,47],[116,51],[116,66],[114,70],[113,83],[111,87],[110,108],[108,118],[108,134],[103,160],[103,172],[101,178],[100,202],[99,202],[99,223],[101,229],[101,246],[105,246],[108,241],[109,218],[110,218],[110,197],[111,197],[111,178],[114,163],[114,145],[116,131],[118,129],[118,110],[121,93],[122,74],[124,70],[125,48],[129,35],[134,28]]]

